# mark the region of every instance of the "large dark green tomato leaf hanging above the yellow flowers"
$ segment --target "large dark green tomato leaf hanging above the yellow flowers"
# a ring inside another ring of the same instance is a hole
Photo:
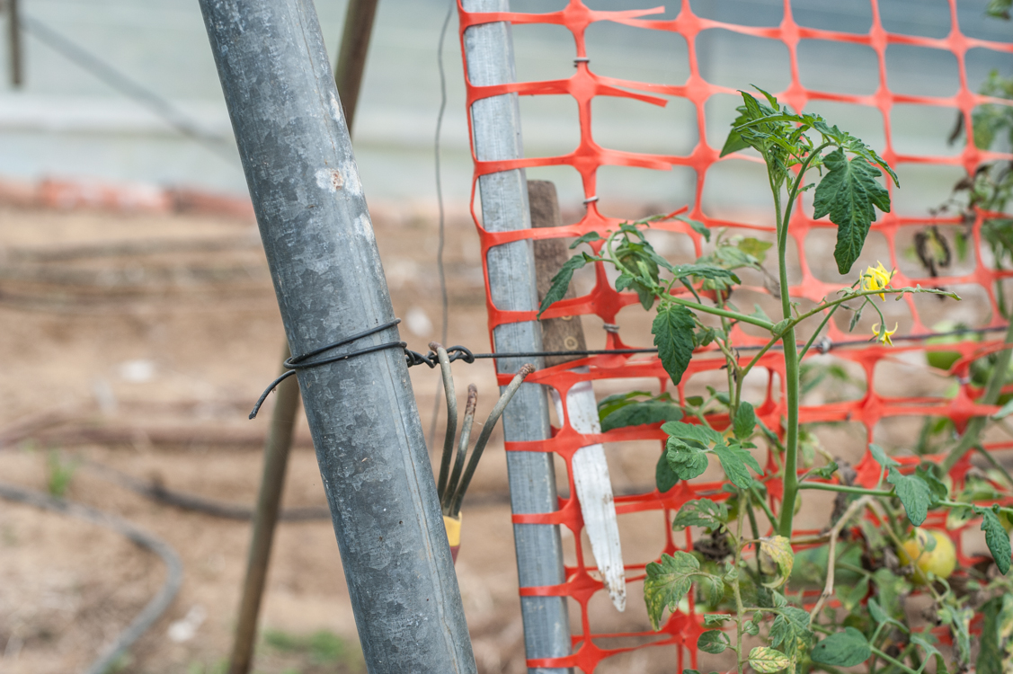
[[[838,272],[848,274],[876,219],[875,208],[889,213],[889,193],[876,181],[882,172],[864,157],[849,161],[844,149],[838,148],[824,157],[824,164],[828,171],[816,186],[812,215],[816,220],[830,215],[837,225],[834,259]]]

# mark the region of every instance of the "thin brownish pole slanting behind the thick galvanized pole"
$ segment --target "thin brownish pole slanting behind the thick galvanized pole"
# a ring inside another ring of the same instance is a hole
[[[378,0],[349,0],[344,16],[344,32],[334,68],[334,84],[338,100],[344,111],[345,126],[350,134],[359,101],[359,90],[366,68],[366,53],[373,31]],[[289,358],[288,343],[282,360]],[[285,473],[289,464],[289,449],[296,431],[299,415],[299,383],[292,378],[278,385],[275,408],[263,451],[263,474],[253,513],[252,536],[246,560],[246,577],[239,599],[236,635],[229,658],[229,674],[247,674],[253,664],[256,646],[257,618],[263,588],[267,582],[267,568],[275,539],[275,527],[282,503]]]

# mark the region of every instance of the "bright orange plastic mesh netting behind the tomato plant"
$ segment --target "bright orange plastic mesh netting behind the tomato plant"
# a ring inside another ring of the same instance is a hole
[[[884,124],[885,147],[882,148],[881,156],[894,168],[903,167],[906,164],[933,164],[933,165],[954,165],[962,167],[968,174],[973,174],[976,169],[984,162],[991,162],[997,159],[1009,160],[1013,155],[1000,154],[988,150],[980,149],[973,143],[966,143],[963,150],[953,156],[914,156],[901,154],[894,149],[891,128],[890,110],[899,103],[921,104],[921,105],[945,105],[957,108],[963,118],[964,129],[970,128],[971,111],[977,105],[983,103],[1003,103],[1008,101],[980,95],[968,88],[965,69],[965,55],[972,48],[987,48],[1000,53],[1013,53],[1013,45],[994,43],[983,40],[976,40],[962,34],[958,27],[956,0],[949,0],[951,25],[949,34],[941,39],[913,36],[908,34],[898,34],[887,32],[880,20],[879,8],[875,0],[871,0],[872,24],[865,33],[840,32],[833,30],[823,30],[804,27],[792,19],[792,7],[790,0],[784,1],[783,20],[776,27],[754,27],[714,21],[695,15],[691,9],[689,0],[683,0],[681,11],[674,19],[654,20],[647,18],[652,14],[664,11],[663,8],[640,9],[628,11],[597,11],[587,7],[581,0],[570,0],[565,9],[551,13],[469,13],[460,7],[460,36],[462,41],[462,53],[464,45],[464,31],[472,25],[487,23],[492,21],[510,21],[514,24],[557,24],[565,26],[572,32],[575,43],[575,66],[574,74],[567,79],[538,82],[519,82],[497,86],[473,86],[467,83],[467,104],[470,105],[480,98],[500,95],[503,93],[516,92],[521,95],[546,95],[546,94],[566,94],[572,96],[577,103],[579,110],[580,140],[577,148],[572,152],[562,156],[523,158],[512,161],[478,161],[475,160],[474,181],[472,185],[472,213],[474,215],[475,185],[478,176],[502,170],[515,168],[531,168],[539,166],[559,166],[568,165],[579,172],[582,180],[583,194],[587,203],[587,214],[582,219],[573,225],[557,228],[529,229],[510,232],[490,232],[482,228],[480,220],[475,217],[475,223],[481,240],[481,252],[483,266],[486,265],[486,253],[492,246],[500,245],[511,241],[525,238],[558,238],[576,237],[591,231],[605,232],[615,229],[621,222],[620,219],[607,217],[600,213],[597,203],[597,171],[606,165],[613,166],[633,166],[656,170],[671,170],[674,166],[686,166],[696,174],[696,198],[693,205],[689,207],[687,215],[699,220],[708,227],[722,228],[734,227],[739,230],[752,229],[761,232],[772,232],[773,226],[751,225],[732,220],[718,219],[710,217],[701,207],[702,195],[706,184],[708,169],[715,163],[725,161],[728,157],[719,158],[719,147],[714,147],[707,142],[706,119],[704,106],[709,98],[715,94],[736,94],[734,89],[718,86],[705,80],[700,74],[700,67],[697,58],[696,39],[698,34],[708,28],[723,28],[736,33],[753,35],[758,38],[773,39],[780,41],[786,46],[790,57],[791,84],[784,90],[774,92],[778,98],[796,110],[805,108],[809,101],[829,100],[854,105],[869,106],[876,108],[882,115]],[[647,28],[658,31],[671,31],[682,35],[688,47],[689,78],[682,85],[664,85],[656,83],[644,83],[605,77],[596,74],[594,64],[590,63],[587,57],[585,31],[596,21],[612,21],[628,26]],[[869,95],[849,95],[840,93],[830,93],[803,87],[799,80],[798,68],[798,45],[802,40],[833,41],[838,43],[851,43],[863,45],[871,48],[878,58],[878,87],[874,93]],[[951,96],[916,96],[902,95],[892,92],[887,86],[886,79],[886,48],[889,45],[908,45],[936,50],[945,50],[952,54],[959,69],[959,89]],[[467,68],[465,69],[467,73]],[[466,74],[467,77],[467,74]],[[665,105],[669,98],[683,98],[691,103],[696,110],[698,126],[698,142],[692,151],[686,155],[667,156],[658,154],[646,154],[635,152],[617,151],[600,146],[595,142],[592,135],[591,113],[592,100],[596,96],[618,96],[632,98],[644,104]],[[667,96],[669,98],[663,98]],[[835,120],[831,120],[834,123]],[[469,115],[469,125],[471,124]],[[847,128],[847,122],[844,122]],[[942,134],[947,130],[942,130]],[[473,152],[474,157],[474,152]],[[738,157],[743,159],[743,157]],[[757,159],[757,161],[759,161]],[[888,185],[892,190],[892,185]],[[940,200],[941,201],[941,200]],[[988,295],[988,304],[991,306],[990,318],[988,322],[980,327],[1000,328],[1004,325],[1001,313],[998,311],[995,287],[1000,281],[1011,275],[1010,272],[1001,272],[989,269],[981,261],[981,255],[977,251],[982,249],[981,226],[983,221],[989,217],[996,217],[997,214],[979,213],[977,222],[971,229],[971,236],[975,243],[975,266],[965,274],[954,276],[941,276],[935,279],[928,274],[924,278],[906,275],[899,265],[898,235],[906,228],[922,228],[926,224],[959,225],[962,224],[960,218],[907,218],[899,217],[895,214],[885,214],[880,216],[878,222],[873,224],[873,232],[883,235],[888,247],[888,259],[883,258],[883,264],[887,268],[898,269],[898,275],[893,282],[893,287],[914,286],[923,284],[926,286],[944,286],[958,289],[961,286],[976,285]],[[811,210],[796,208],[792,214],[789,233],[794,240],[798,250],[805,250],[804,241],[810,231],[828,228],[833,225],[828,221],[814,221],[811,219]],[[688,225],[682,222],[655,223],[652,229],[664,230],[673,234],[689,237],[693,241],[696,253],[699,255],[703,249],[701,237],[693,232]],[[909,231],[910,234],[910,231]],[[601,245],[601,242],[594,245]],[[902,249],[901,253],[904,252]],[[825,296],[831,295],[840,289],[840,283],[829,283],[821,280],[813,274],[811,269],[812,260],[806,260],[804,255],[800,255],[798,265],[800,267],[800,280],[791,288],[792,296],[819,302]],[[857,266],[856,266],[857,270]],[[486,270],[486,306],[489,316],[489,330],[496,325],[515,321],[530,321],[535,318],[533,311],[503,311],[498,309],[493,303],[488,293],[488,275]],[[857,278],[857,271],[855,272]],[[850,283],[850,282],[849,282]],[[752,288],[751,290],[766,293],[763,288]],[[933,299],[933,298],[929,298]],[[919,313],[920,308],[915,299],[908,296],[904,302],[907,303],[911,312],[910,332],[912,334],[924,334],[930,332],[930,325],[922,321]],[[573,299],[566,299],[553,305],[544,317],[595,314],[606,323],[615,323],[619,311],[630,304],[637,303],[637,297],[633,293],[616,292],[606,276],[606,270],[601,264],[597,266],[596,282],[594,289]],[[749,348],[762,346],[766,343],[765,338],[752,335],[741,329],[733,328],[734,341],[737,346]],[[841,343],[856,339],[861,340],[862,335],[849,335],[843,331],[833,321],[828,324],[827,336],[833,343]],[[867,336],[867,333],[865,333]],[[995,334],[992,338],[994,339]],[[975,399],[981,395],[981,390],[975,388],[968,375],[970,363],[978,358],[994,353],[999,349],[999,342],[976,341],[968,338],[960,344],[947,344],[945,346],[928,346],[917,343],[905,343],[892,348],[878,345],[861,347],[843,347],[835,349],[834,355],[840,359],[856,364],[864,372],[867,382],[866,391],[861,399],[845,402],[835,402],[821,404],[816,406],[803,406],[801,409],[801,422],[803,424],[827,423],[827,422],[857,422],[864,425],[869,441],[872,439],[873,428],[883,419],[902,416],[917,417],[945,417],[953,421],[958,430],[962,430],[966,422],[975,416],[990,414],[995,410],[993,406],[976,404]],[[630,347],[641,347],[645,345],[627,345],[620,339],[618,333],[609,332],[607,335],[608,349],[623,349]],[[646,345],[649,346],[649,345]],[[955,397],[921,396],[921,397],[892,397],[885,396],[877,392],[875,385],[876,365],[884,358],[895,358],[909,351],[924,352],[925,350],[946,350],[959,352],[961,358],[950,369],[953,381],[958,382],[959,390]],[[811,352],[810,352],[811,353]],[[681,400],[685,399],[685,382],[690,380],[696,373],[707,370],[717,370],[724,361],[715,354],[716,358],[704,357],[694,358],[689,366],[689,370],[683,377],[683,384],[678,387],[678,394]],[[748,358],[746,359],[749,360]],[[590,366],[588,373],[575,373],[571,368],[579,365]],[[766,368],[768,373],[767,396],[762,404],[757,405],[757,413],[770,428],[780,428],[780,420],[785,414],[784,395],[776,394],[777,389],[783,387],[783,361],[780,354],[768,353],[759,363]],[[618,378],[649,377],[660,382],[661,390],[666,387],[671,389],[671,381],[660,363],[656,358],[644,356],[595,356],[579,361],[573,361],[564,365],[547,368],[532,375],[528,381],[538,382],[556,389],[565,399],[568,389],[579,381],[603,380]],[[501,383],[506,383],[509,377],[501,378]],[[673,391],[675,393],[675,391]],[[565,407],[565,405],[564,405]],[[565,410],[564,410],[565,411]],[[588,605],[595,593],[603,592],[603,586],[597,580],[595,574],[597,570],[593,566],[586,564],[586,553],[581,544],[580,530],[582,527],[579,504],[575,497],[572,474],[569,471],[570,459],[573,453],[580,447],[595,443],[617,443],[635,440],[656,440],[664,443],[666,436],[654,427],[637,427],[619,429],[597,436],[580,435],[569,425],[567,419],[561,420],[561,428],[554,430],[553,437],[549,440],[538,442],[513,442],[508,443],[508,451],[536,451],[554,452],[566,463],[567,472],[570,474],[569,497],[561,498],[557,512],[543,515],[514,515],[515,523],[532,524],[558,524],[568,528],[573,533],[575,545],[576,565],[566,568],[566,582],[556,587],[522,588],[522,596],[566,596],[576,602],[580,607],[580,627],[574,628],[572,655],[565,658],[529,660],[529,667],[578,667],[586,673],[593,672],[599,663],[609,657],[631,650],[631,648],[606,649],[599,646],[601,640],[610,636],[640,636],[642,641],[649,642],[649,646],[664,644],[676,645],[678,649],[678,667],[676,671],[681,671],[684,666],[696,665],[696,640],[702,631],[698,618],[691,611],[689,614],[676,612],[663,626],[656,639],[647,639],[654,632],[638,632],[636,634],[606,634],[593,631],[591,618],[589,616]],[[990,449],[1013,448],[1013,443],[1006,445],[993,445]],[[656,456],[656,455],[655,455]],[[904,461],[905,459],[902,459]],[[911,457],[907,459],[909,463],[917,462]],[[768,458],[768,468],[773,468],[773,462]],[[954,477],[960,479],[968,467],[967,459],[957,465],[954,469]],[[879,473],[878,464],[874,463],[871,456],[865,458],[856,466],[858,471],[858,483],[872,485],[876,482]],[[768,489],[773,498],[779,496],[779,484],[773,480],[768,481]],[[693,483],[681,482],[677,488],[661,495],[657,492],[640,494],[635,496],[624,496],[616,498],[616,510],[620,516],[628,513],[641,511],[665,511],[666,522],[671,521],[669,513],[676,511],[686,501],[695,498],[700,494],[713,495],[719,491],[720,483]],[[622,518],[620,517],[620,522]],[[940,524],[938,516],[934,520],[938,526]],[[932,521],[930,521],[930,525]],[[668,527],[666,527],[668,529]],[[958,553],[961,564],[969,564],[969,559],[959,548],[958,532],[951,532],[958,545]],[[661,552],[671,553],[677,549],[676,541],[671,530],[666,534],[667,543],[665,549],[657,550],[659,556]],[[689,534],[687,533],[687,537]],[[687,544],[691,541],[687,540]],[[656,557],[655,557],[656,558]],[[643,564],[627,566],[627,579],[636,581],[643,578]],[[635,597],[631,600],[636,601]],[[596,643],[598,640],[598,643]]]

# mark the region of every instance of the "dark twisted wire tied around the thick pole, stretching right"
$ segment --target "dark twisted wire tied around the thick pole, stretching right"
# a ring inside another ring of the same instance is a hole
[[[387,349],[402,349],[404,350],[404,357],[407,362],[407,366],[413,367],[415,365],[427,365],[430,368],[435,368],[440,364],[440,360],[437,358],[437,354],[434,351],[430,351],[424,356],[417,351],[411,351],[408,349],[408,345],[404,342],[388,342],[386,344],[379,344],[372,347],[366,347],[365,349],[359,349],[357,351],[348,352],[346,354],[338,354],[336,356],[330,356],[319,361],[312,361],[307,363],[306,360],[318,356],[324,352],[330,351],[331,349],[337,349],[338,347],[343,347],[346,344],[356,342],[363,338],[369,336],[371,334],[376,334],[377,332],[382,332],[388,328],[394,327],[401,322],[400,318],[395,318],[394,320],[388,321],[372,327],[358,334],[353,334],[349,338],[345,338],[339,342],[334,342],[328,344],[325,347],[320,347],[319,349],[314,349],[313,351],[303,354],[301,356],[292,356],[285,361],[285,367],[288,371],[282,374],[282,376],[275,379],[267,385],[260,397],[257,398],[256,404],[253,405],[253,410],[250,413],[250,419],[256,417],[257,413],[260,410],[260,405],[263,401],[267,399],[267,395],[275,390],[280,383],[296,374],[299,370],[308,370],[309,368],[317,367],[318,365],[327,365],[329,363],[336,363],[338,361],[347,360],[356,356],[364,356],[366,354],[373,354],[378,351],[384,351]],[[946,332],[927,332],[925,334],[903,334],[901,336],[891,338],[893,342],[921,342],[924,340],[932,340],[936,338],[946,338],[946,336],[958,336],[961,334],[986,334],[988,332],[999,332],[1005,331],[1007,327],[1005,325],[999,325],[995,327],[977,327],[977,328],[965,328],[958,330],[949,330]],[[822,340],[813,343],[813,347],[821,353],[826,354],[832,349],[837,347],[854,347],[858,345],[868,344],[874,341],[876,338],[873,335],[871,340],[847,340],[845,342],[833,343],[829,339],[824,338]],[[771,351],[780,350],[783,347],[776,346],[771,349]],[[744,351],[760,351],[763,347],[759,346],[745,346],[745,347],[733,347],[736,352]],[[447,350],[447,358],[453,363],[454,361],[464,361],[465,363],[474,363],[476,360],[492,359],[501,360],[508,358],[551,358],[554,356],[628,356],[633,354],[656,354],[657,349],[586,349],[582,351],[524,351],[524,352],[501,352],[497,354],[475,354],[472,353],[467,347],[449,347]]]

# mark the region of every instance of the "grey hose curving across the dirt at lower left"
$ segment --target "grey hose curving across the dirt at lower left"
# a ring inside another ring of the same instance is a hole
[[[120,632],[115,641],[104,650],[98,659],[84,670],[84,674],[104,674],[120,656],[126,653],[141,635],[148,631],[155,621],[165,613],[172,600],[175,599],[176,593],[179,592],[179,587],[183,582],[183,565],[179,560],[179,555],[176,554],[176,551],[168,543],[158,536],[144,531],[115,515],[104,513],[89,506],[65,501],[64,499],[56,499],[42,492],[26,490],[3,482],[0,482],[0,498],[51,510],[62,515],[69,515],[100,527],[105,527],[130,538],[138,545],[148,548],[165,563],[165,582],[158,593],[134,617],[134,620],[127,628]]]

